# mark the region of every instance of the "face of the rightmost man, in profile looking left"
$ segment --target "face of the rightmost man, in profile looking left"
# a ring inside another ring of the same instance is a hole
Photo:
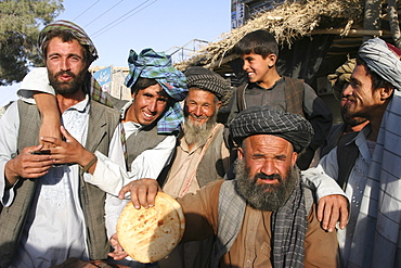
[[[364,65],[355,66],[350,84],[344,90],[342,95],[346,98],[344,110],[348,117],[370,118],[383,104],[380,90],[373,90],[372,78]]]

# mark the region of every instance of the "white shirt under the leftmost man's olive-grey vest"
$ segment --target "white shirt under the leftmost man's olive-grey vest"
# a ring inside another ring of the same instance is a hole
[[[63,115],[63,126],[81,144],[86,143],[89,123],[88,97],[67,109]],[[1,118],[0,124],[0,165],[2,168],[0,189],[4,190],[4,165],[17,150],[20,116],[17,104],[12,104]],[[119,131],[116,130],[111,151],[114,155],[122,155]],[[114,158],[124,165],[124,157]],[[106,174],[105,174],[106,175]],[[90,177],[85,174],[85,177]],[[5,191],[13,192],[13,189]],[[13,194],[1,193],[4,205],[12,202]],[[111,201],[111,196],[107,197]],[[105,204],[105,212],[114,215],[106,217],[108,233],[115,232],[116,215],[119,203]],[[83,212],[79,200],[79,166],[60,165],[52,167],[47,175],[38,179],[37,192],[34,197],[27,221],[22,234],[17,255],[12,267],[50,267],[65,260],[69,256],[88,259],[87,232]],[[40,258],[38,258],[40,256]]]

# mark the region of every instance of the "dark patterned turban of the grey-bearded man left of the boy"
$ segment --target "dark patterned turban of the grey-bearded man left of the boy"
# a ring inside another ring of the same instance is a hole
[[[210,91],[219,101],[231,90],[230,82],[215,72],[204,67],[191,67],[185,71],[187,88]]]

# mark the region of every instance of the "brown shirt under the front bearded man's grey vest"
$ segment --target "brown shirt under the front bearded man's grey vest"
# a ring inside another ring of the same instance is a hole
[[[217,233],[219,191],[223,180],[202,188],[195,195],[178,199],[185,216],[182,242],[202,240]],[[337,267],[336,233],[325,232],[315,218],[315,205],[308,215],[305,239],[306,267]],[[272,267],[271,212],[246,206],[240,233],[220,267]]]

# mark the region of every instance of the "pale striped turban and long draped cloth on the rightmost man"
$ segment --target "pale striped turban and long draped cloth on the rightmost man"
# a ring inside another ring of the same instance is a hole
[[[364,42],[359,51],[367,66],[397,89],[383,116],[375,151],[367,173],[360,213],[354,230],[363,235],[368,216],[377,217],[371,267],[401,265],[401,62],[379,38]],[[349,264],[363,267],[363,259],[350,253]]]

